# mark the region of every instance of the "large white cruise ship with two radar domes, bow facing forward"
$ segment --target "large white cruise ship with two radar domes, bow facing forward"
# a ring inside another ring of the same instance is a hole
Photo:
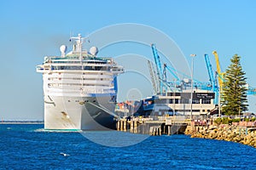
[[[113,128],[117,76],[124,72],[112,58],[83,49],[86,38],[71,37],[73,50],[62,45],[61,56],[46,56],[37,66],[44,81],[44,129],[98,130]]]

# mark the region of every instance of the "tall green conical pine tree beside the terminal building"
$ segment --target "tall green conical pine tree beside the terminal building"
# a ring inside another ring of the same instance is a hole
[[[224,86],[222,89],[222,111],[225,115],[240,115],[247,111],[247,78],[242,71],[241,57],[235,54],[230,59],[231,64],[224,74]]]

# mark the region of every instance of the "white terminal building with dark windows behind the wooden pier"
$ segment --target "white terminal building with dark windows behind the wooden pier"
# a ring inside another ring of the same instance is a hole
[[[192,98],[192,103],[191,103]],[[183,115],[202,116],[215,109],[215,94],[212,91],[194,89],[183,92],[168,92],[165,95],[155,95],[143,100],[144,115]]]

